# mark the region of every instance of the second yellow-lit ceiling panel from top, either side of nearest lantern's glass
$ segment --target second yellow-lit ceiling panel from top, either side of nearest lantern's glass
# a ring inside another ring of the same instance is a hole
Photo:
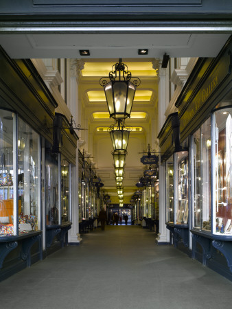
[[[106,101],[104,90],[88,91],[87,95],[89,97],[89,102],[105,102]],[[152,97],[152,91],[137,89],[137,91],[135,92],[134,102],[140,102],[140,101],[149,102],[151,97]]]

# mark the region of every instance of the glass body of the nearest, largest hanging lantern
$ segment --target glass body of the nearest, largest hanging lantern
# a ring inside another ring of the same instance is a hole
[[[129,81],[111,81],[104,86],[111,118],[126,119],[130,117],[135,91],[135,84]]]

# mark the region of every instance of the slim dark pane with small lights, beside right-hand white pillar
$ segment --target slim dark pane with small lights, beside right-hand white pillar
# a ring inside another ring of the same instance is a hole
[[[174,162],[173,157],[166,162],[166,205],[167,205],[167,222],[174,223]]]

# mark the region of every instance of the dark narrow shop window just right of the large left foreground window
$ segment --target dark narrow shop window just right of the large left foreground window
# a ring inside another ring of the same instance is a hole
[[[45,148],[45,205],[47,225],[60,225],[59,155],[51,151],[46,141]]]

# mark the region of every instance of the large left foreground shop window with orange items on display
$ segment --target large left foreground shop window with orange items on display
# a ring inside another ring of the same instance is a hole
[[[11,111],[0,116],[0,237],[40,229],[40,137]]]

